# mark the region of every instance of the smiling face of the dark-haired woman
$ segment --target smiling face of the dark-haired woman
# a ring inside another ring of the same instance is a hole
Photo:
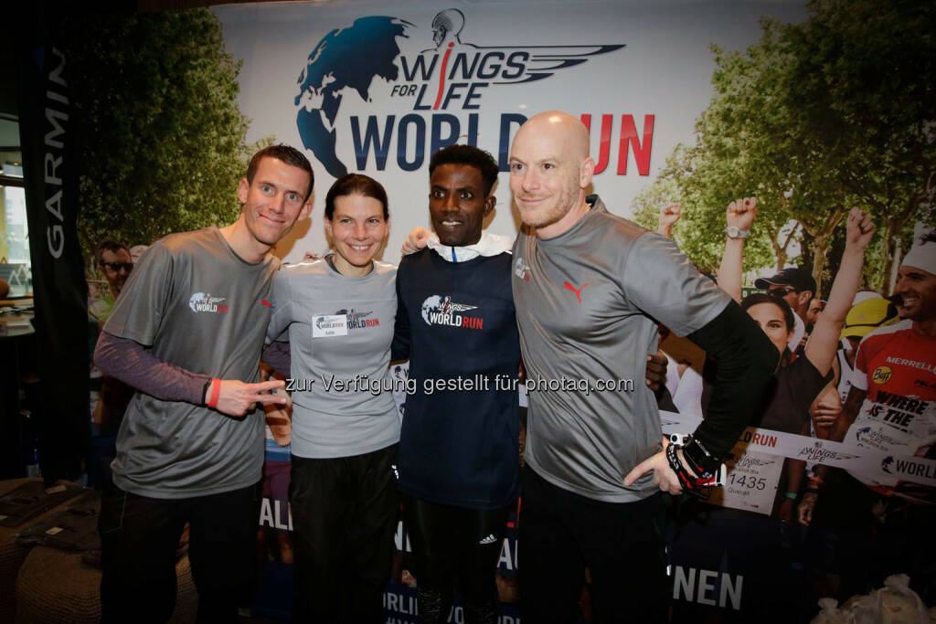
[[[334,243],[335,268],[349,277],[367,275],[389,231],[384,205],[373,197],[345,195],[335,197],[334,206],[325,230]]]

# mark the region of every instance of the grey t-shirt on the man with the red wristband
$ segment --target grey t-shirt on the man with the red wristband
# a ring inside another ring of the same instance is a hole
[[[144,254],[104,331],[220,379],[258,379],[279,260],[244,261],[217,228],[173,234]],[[178,499],[251,486],[263,468],[263,412],[233,418],[137,392],[117,437],[114,483]]]

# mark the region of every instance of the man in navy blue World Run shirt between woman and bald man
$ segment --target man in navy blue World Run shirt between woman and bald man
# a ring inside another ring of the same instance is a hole
[[[465,621],[495,622],[494,568],[518,493],[511,241],[482,230],[498,172],[488,152],[450,146],[429,168],[436,235],[416,228],[403,252],[427,242],[429,249],[403,258],[397,273],[394,357],[410,356],[417,381],[400,440],[403,515],[417,561],[419,621],[446,621],[458,577]],[[660,385],[665,357],[649,362],[647,378]]]

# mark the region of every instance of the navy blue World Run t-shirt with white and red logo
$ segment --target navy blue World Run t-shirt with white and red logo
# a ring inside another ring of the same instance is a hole
[[[511,255],[447,262],[425,249],[397,271],[393,358],[409,356],[416,392],[400,434],[400,489],[471,509],[518,493],[519,335]]]

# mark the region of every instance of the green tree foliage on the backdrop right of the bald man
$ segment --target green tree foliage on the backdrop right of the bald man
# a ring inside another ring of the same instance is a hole
[[[712,47],[716,93],[696,120],[695,145],[677,147],[635,208],[646,218],[665,205],[656,205],[664,191],[666,201],[680,201],[680,245],[700,268],[713,268],[724,207],[756,195],[745,270],[782,268],[796,239],[822,282],[836,226],[851,206],[865,207],[884,233],[866,278],[883,290],[892,239],[906,248],[914,221],[933,221],[936,11],[871,0],[809,8],[801,24],[764,20],[761,40],[746,51]]]

